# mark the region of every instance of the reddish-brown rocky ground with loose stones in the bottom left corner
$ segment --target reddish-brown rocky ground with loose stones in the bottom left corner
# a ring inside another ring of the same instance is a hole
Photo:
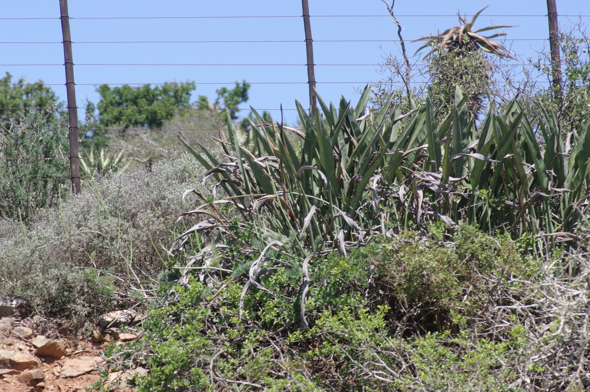
[[[99,379],[98,369],[104,365],[101,354],[109,344],[137,339],[136,334],[118,330],[137,321],[132,311],[103,315],[88,337],[78,335],[67,322],[30,317],[18,308],[0,311],[0,317],[4,316],[0,318],[2,392],[81,392]],[[141,367],[132,373],[112,372],[109,386],[130,392],[125,381],[144,373]]]

